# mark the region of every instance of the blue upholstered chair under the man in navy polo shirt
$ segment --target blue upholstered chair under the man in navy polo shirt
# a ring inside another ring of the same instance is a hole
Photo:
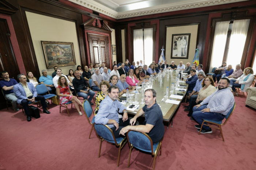
[[[152,142],[152,139],[143,132],[136,132],[136,131],[128,131],[127,132],[127,139],[130,146],[130,153],[128,159],[128,166],[130,165],[131,153],[133,147],[138,148],[144,152],[149,152],[154,156],[154,163],[153,163],[153,170],[155,169],[155,159],[157,158],[158,152],[160,150],[160,156],[162,152],[162,140],[158,143]]]

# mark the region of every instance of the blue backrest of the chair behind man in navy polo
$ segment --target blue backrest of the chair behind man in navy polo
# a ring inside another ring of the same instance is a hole
[[[127,139],[130,146],[132,144],[139,150],[151,152],[152,155],[154,154],[153,142],[147,134],[143,132],[128,131]]]

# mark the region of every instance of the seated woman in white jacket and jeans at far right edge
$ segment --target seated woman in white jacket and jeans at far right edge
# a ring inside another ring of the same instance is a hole
[[[244,74],[237,78],[236,80],[230,80],[229,88],[234,92],[234,96],[238,96],[236,87],[241,89],[241,92],[245,92],[245,89],[250,87],[254,80],[253,70],[251,67],[247,67],[244,70]]]

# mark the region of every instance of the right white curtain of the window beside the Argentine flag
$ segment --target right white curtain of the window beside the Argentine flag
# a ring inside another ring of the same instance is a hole
[[[153,28],[144,29],[145,64],[149,66],[153,61]]]

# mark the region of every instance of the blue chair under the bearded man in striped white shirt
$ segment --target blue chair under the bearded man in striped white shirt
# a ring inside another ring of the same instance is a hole
[[[223,134],[222,134],[222,129],[221,129],[221,125],[225,125],[227,123],[227,120],[229,120],[229,117],[232,115],[232,113],[234,112],[234,109],[236,107],[236,102],[234,103],[233,107],[230,109],[230,111],[227,113],[227,115],[225,116],[225,122],[222,123],[222,120],[219,120],[219,121],[215,121],[215,120],[208,120],[208,119],[204,119],[202,125],[201,125],[201,128],[200,128],[200,131],[199,131],[199,134],[201,133],[201,130],[202,130],[202,127],[203,127],[203,124],[204,122],[206,123],[211,123],[211,124],[214,124],[214,125],[218,125],[218,127],[215,127],[215,126],[212,126],[212,125],[208,125],[208,124],[204,124],[206,126],[209,126],[209,127],[212,127],[212,128],[215,128],[215,129],[218,129],[221,131],[221,137],[222,137],[222,140],[224,142],[224,138],[223,138]]]

